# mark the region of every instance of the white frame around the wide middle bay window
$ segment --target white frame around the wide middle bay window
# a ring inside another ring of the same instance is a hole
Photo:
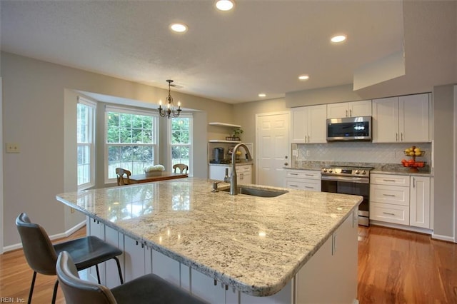
[[[153,111],[147,111],[147,110],[141,110],[141,109],[136,109],[136,108],[124,108],[121,106],[111,106],[111,105],[106,105],[105,106],[105,111],[104,111],[104,183],[109,184],[109,183],[116,183],[116,177],[115,178],[109,178],[109,157],[108,157],[108,150],[109,146],[131,146],[127,145],[124,143],[108,143],[108,113],[109,112],[116,112],[116,113],[123,113],[123,114],[133,114],[133,115],[141,115],[141,116],[151,116],[154,118],[153,120],[153,126],[154,126],[154,133],[153,133],[153,138],[155,138],[155,143],[141,143],[141,144],[136,144],[135,146],[154,146],[154,154],[153,158],[154,161],[159,160],[159,148],[160,148],[160,139],[159,139],[159,115],[157,113],[154,113]],[[135,173],[132,172],[132,175]]]

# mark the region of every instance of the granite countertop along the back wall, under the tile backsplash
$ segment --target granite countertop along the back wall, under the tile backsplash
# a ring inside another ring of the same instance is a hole
[[[292,170],[313,170],[321,171],[322,167],[325,166],[358,166],[358,167],[373,167],[370,171],[371,174],[396,174],[396,175],[408,175],[408,176],[433,176],[431,173],[430,166],[424,168],[418,168],[418,172],[411,172],[410,168],[403,167],[399,163],[346,163],[337,161],[298,161],[295,166],[286,169]]]

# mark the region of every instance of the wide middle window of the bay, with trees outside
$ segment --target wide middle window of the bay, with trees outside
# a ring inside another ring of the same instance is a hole
[[[116,168],[144,173],[159,153],[157,115],[147,111],[106,107],[106,182],[116,178]]]

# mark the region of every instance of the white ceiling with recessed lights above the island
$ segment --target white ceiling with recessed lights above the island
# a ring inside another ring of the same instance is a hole
[[[401,1],[1,1],[3,51],[229,103],[352,83],[403,37]]]

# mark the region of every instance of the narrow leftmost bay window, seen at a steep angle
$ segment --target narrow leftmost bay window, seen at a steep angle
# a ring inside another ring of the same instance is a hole
[[[95,185],[95,111],[96,103],[78,98],[76,105],[76,141],[78,189]]]

